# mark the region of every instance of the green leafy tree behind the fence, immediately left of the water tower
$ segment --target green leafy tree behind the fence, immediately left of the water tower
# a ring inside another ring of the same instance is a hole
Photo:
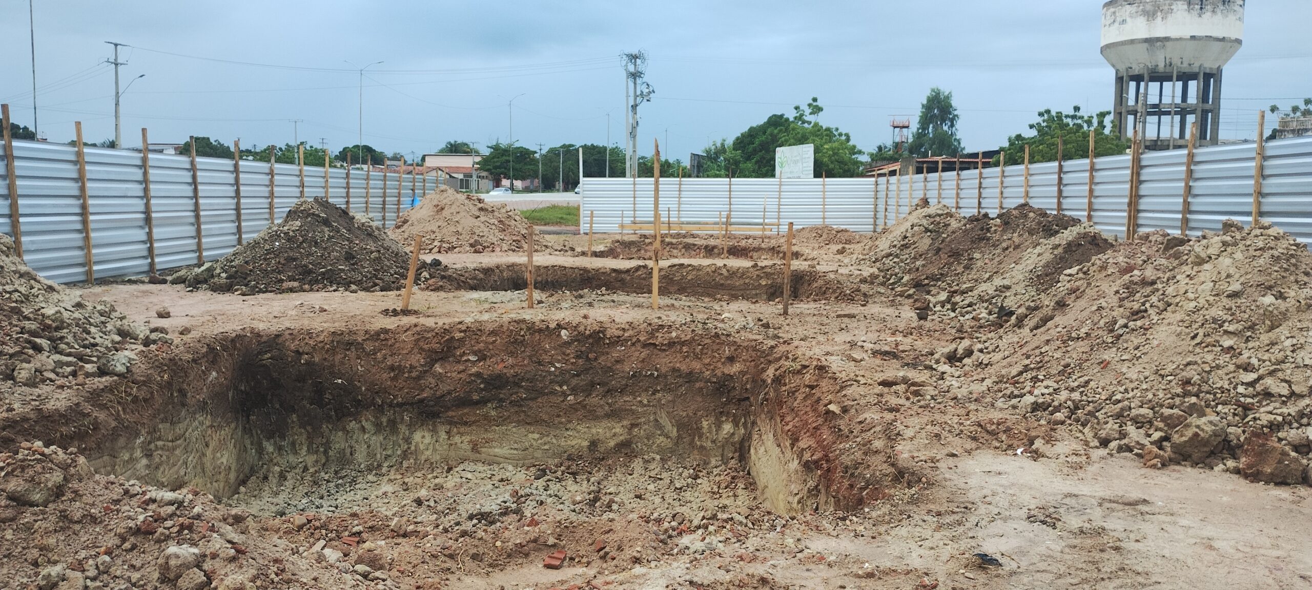
[[[1008,139],[1002,152],[1006,161],[1019,164],[1025,161],[1025,147],[1030,147],[1030,163],[1056,161],[1057,138],[1061,138],[1063,159],[1077,160],[1089,157],[1089,130],[1094,134],[1094,156],[1114,156],[1126,153],[1130,143],[1111,135],[1107,130],[1107,117],[1110,110],[1097,115],[1080,113],[1080,106],[1071,108],[1071,113],[1054,113],[1052,109],[1039,111],[1039,121],[1030,123],[1034,135],[1017,134]],[[1000,164],[1001,157],[994,157],[993,164]]]

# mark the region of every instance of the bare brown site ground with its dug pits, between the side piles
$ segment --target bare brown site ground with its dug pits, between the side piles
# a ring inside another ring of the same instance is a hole
[[[678,239],[711,254],[661,261],[659,309],[631,236],[541,239],[533,309],[522,252],[426,254],[408,315],[79,288],[173,341],[4,397],[0,450],[73,467],[0,505],[0,589],[1312,587],[1312,488],[1000,403],[1030,351],[872,279],[867,244],[799,245],[783,316],[778,236]]]

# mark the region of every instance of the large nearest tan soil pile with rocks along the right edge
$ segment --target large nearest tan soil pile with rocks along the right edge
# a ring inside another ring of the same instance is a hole
[[[1042,321],[938,351],[949,388],[1148,467],[1312,484],[1312,253],[1266,224],[1225,227],[1140,235],[1063,271]],[[959,379],[984,366],[997,379]]]

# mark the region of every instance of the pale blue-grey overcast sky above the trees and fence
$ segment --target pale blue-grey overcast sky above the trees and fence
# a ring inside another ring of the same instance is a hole
[[[967,149],[1022,132],[1044,108],[1111,108],[1098,52],[1101,0],[912,1],[55,1],[35,0],[39,131],[113,138],[105,41],[127,43],[123,144],[207,135],[243,146],[365,143],[429,152],[488,144],[622,144],[619,54],[644,50],[656,90],[639,146],[687,159],[817,96],[821,121],[863,149],[914,118],[932,87],[953,92]],[[28,0],[0,0],[0,101],[31,125]],[[1257,110],[1312,96],[1312,1],[1248,5],[1244,49],[1225,69],[1221,138],[1253,138]],[[177,55],[171,55],[177,54]],[[228,60],[228,62],[223,62]],[[243,63],[230,63],[243,62]],[[266,67],[276,66],[276,67]],[[668,144],[665,140],[668,130]]]

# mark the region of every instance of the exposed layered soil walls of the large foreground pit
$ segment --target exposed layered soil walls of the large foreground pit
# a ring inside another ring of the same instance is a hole
[[[83,452],[220,498],[281,473],[651,455],[739,467],[783,514],[851,509],[875,485],[851,476],[869,458],[833,455],[827,370],[680,325],[243,330],[140,370],[135,423]]]

